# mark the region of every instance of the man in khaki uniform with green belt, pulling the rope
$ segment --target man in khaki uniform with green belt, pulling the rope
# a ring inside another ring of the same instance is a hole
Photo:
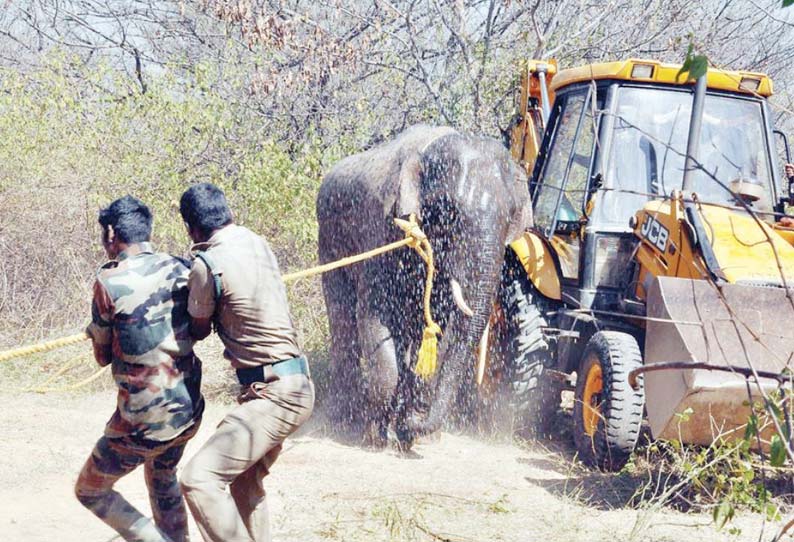
[[[195,242],[191,334],[203,339],[215,325],[242,386],[240,406],[185,467],[182,491],[204,540],[269,541],[262,479],[284,439],[311,415],[308,363],[267,242],[232,222],[223,192],[212,184],[188,189],[180,212]]]

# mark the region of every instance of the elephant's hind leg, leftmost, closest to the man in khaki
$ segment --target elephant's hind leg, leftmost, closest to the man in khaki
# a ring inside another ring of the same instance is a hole
[[[356,327],[356,289],[343,269],[323,276],[323,292],[331,331],[328,413],[336,427],[360,431],[365,407],[361,349]]]

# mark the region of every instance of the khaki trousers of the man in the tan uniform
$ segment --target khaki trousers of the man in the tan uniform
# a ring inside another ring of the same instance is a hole
[[[290,375],[260,394],[232,410],[182,472],[182,492],[207,542],[270,541],[262,480],[284,439],[311,415],[314,385]]]

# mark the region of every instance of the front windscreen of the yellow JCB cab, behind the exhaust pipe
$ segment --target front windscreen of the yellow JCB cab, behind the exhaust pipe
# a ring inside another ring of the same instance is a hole
[[[691,92],[619,88],[606,190],[596,206],[600,224],[628,229],[629,219],[648,200],[682,187],[691,107]],[[735,179],[749,179],[764,187],[755,208],[771,209],[771,165],[759,101],[708,94],[699,154],[703,170],[696,173],[695,192],[702,201],[736,205],[726,187]]]

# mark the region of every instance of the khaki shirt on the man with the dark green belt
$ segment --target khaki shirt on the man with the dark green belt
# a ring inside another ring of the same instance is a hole
[[[230,224],[191,252],[206,252],[220,275],[220,298],[207,265],[193,260],[188,278],[188,312],[216,316],[223,355],[238,369],[302,355],[287,304],[287,291],[270,246],[248,228]]]

